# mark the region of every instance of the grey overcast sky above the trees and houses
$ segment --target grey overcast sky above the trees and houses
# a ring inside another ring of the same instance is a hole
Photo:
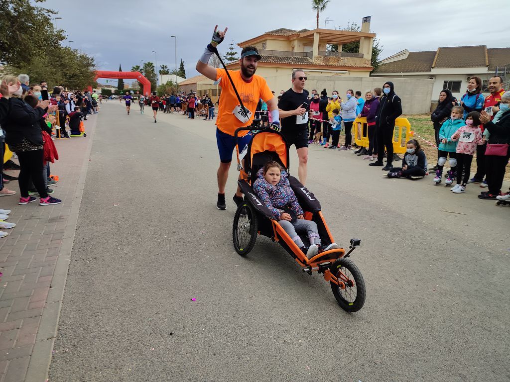
[[[251,4],[251,5],[249,5]],[[292,4],[292,5],[290,5]],[[68,44],[94,56],[99,69],[131,70],[142,60],[175,67],[184,60],[186,76],[198,74],[195,64],[210,41],[214,25],[228,26],[223,54],[234,44],[277,28],[315,29],[316,14],[310,0],[259,0],[257,2],[153,1],[134,0],[47,0],[46,8],[58,11],[58,28],[66,31]],[[370,30],[377,34],[386,58],[402,50],[435,50],[442,46],[487,45],[508,47],[504,16],[510,15],[510,2],[501,0],[491,7],[479,0],[385,0],[346,2],[330,0],[321,13],[319,28],[344,28],[348,21],[361,25],[364,16],[372,16]],[[500,15],[500,19],[496,16]],[[501,25],[498,31],[495,25]],[[505,37],[506,36],[506,37]],[[68,42],[72,40],[73,42]],[[236,48],[238,48],[236,46]],[[240,49],[238,48],[238,51]],[[104,83],[104,81],[101,81]]]

